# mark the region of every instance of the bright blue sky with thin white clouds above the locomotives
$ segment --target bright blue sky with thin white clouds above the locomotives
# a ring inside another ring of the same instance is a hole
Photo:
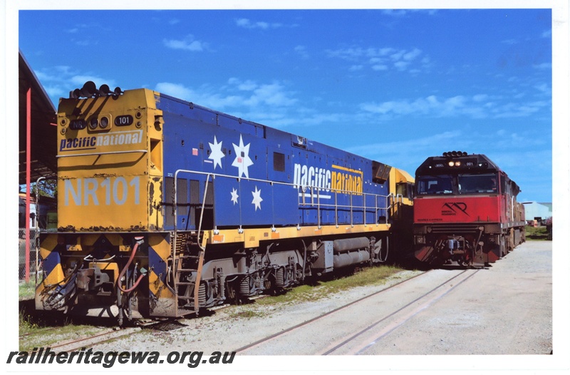
[[[410,174],[484,153],[552,201],[550,9],[20,11],[57,106],[92,80],[151,88]],[[531,164],[532,163],[532,166]]]

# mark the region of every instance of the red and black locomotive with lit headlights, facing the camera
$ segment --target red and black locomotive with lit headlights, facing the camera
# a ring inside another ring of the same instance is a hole
[[[485,155],[452,151],[415,173],[415,257],[432,266],[484,265],[524,242],[519,186]]]

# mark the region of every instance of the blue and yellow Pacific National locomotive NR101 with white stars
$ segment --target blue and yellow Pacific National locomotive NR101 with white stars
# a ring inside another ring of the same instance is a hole
[[[36,309],[177,317],[383,262],[412,205],[402,170],[147,89],[61,99],[58,146]]]

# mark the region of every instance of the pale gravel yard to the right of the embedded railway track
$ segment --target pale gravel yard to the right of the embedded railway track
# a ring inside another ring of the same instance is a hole
[[[527,242],[364,354],[550,354],[551,242]]]

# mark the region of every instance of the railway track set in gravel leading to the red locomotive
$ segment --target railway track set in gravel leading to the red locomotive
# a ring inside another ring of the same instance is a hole
[[[430,289],[421,292],[420,295],[413,298],[410,302],[407,302],[392,311],[385,311],[378,317],[375,317],[375,319],[369,320],[363,327],[357,329],[356,333],[352,334],[348,338],[346,337],[347,335],[341,334],[340,339],[332,339],[331,341],[323,339],[324,342],[329,342],[328,346],[323,347],[316,352],[308,352],[304,354],[361,354],[369,346],[373,346],[376,341],[382,339],[385,335],[393,332],[395,329],[398,329],[398,327],[405,324],[405,322],[412,317],[415,317],[415,315],[419,314],[423,310],[428,309],[432,304],[437,302],[437,300],[444,297],[453,289],[460,287],[463,282],[470,279],[470,277],[474,276],[479,271],[480,269],[455,270],[452,272],[450,277],[445,277],[445,279],[438,282],[435,287],[431,287]],[[371,304],[371,299],[381,301],[381,297],[392,292],[393,289],[402,288],[406,284],[418,281],[416,280],[418,277],[423,277],[430,272],[431,271],[423,272],[413,278],[406,279],[403,282],[394,284],[387,289],[383,289],[379,292],[351,302],[350,304],[338,307],[337,309],[315,317],[314,319],[297,324],[294,327],[255,341],[252,344],[242,346],[237,349],[236,352],[239,354],[301,354],[298,352],[287,353],[282,349],[282,347],[287,346],[287,342],[301,340],[301,332],[323,332],[323,328],[317,328],[319,325],[329,327],[330,330],[330,327],[340,327],[342,325],[340,322],[351,322],[351,316],[352,319],[356,316],[355,314],[351,315],[352,309],[355,309],[356,311],[359,308],[359,305]],[[271,347],[275,347],[275,349],[267,349]]]

